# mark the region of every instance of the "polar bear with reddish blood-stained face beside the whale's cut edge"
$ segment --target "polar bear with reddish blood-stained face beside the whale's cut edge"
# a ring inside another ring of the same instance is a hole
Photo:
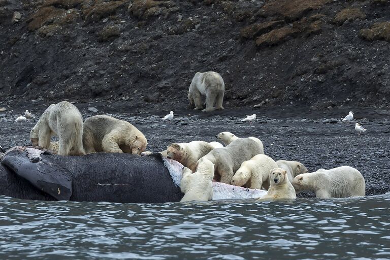
[[[203,141],[173,143],[167,147],[167,158],[177,160],[194,172],[198,160],[213,149],[214,147],[210,143]]]

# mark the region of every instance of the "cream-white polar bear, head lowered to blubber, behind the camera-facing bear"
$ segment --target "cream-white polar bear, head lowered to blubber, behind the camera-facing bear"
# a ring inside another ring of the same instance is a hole
[[[234,174],[230,184],[236,186],[245,186],[251,189],[264,189],[270,187],[268,176],[272,169],[278,168],[275,161],[264,154],[257,154],[250,160],[246,160]]]

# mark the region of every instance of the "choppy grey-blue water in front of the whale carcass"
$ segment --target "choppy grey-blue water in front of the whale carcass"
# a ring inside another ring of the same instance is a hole
[[[205,204],[0,197],[0,259],[388,259],[390,194]]]

